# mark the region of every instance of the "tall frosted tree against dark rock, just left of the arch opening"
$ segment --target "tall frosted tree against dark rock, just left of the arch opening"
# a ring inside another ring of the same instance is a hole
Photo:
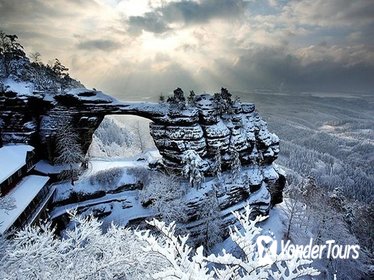
[[[79,138],[77,133],[73,130],[69,118],[63,116],[56,136],[56,151],[57,157],[55,163],[60,164],[68,169],[64,169],[60,176],[65,179],[70,179],[72,185],[79,175],[79,166],[84,161]]]

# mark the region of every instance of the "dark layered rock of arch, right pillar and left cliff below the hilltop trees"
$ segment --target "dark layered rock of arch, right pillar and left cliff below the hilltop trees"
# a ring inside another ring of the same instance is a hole
[[[4,143],[23,142],[36,147],[38,154],[52,161],[61,122],[68,120],[79,135],[85,153],[92,134],[105,115],[137,115],[152,120],[151,135],[162,155],[161,167],[181,174],[182,157],[194,150],[207,163],[205,175],[214,175],[216,159],[222,170],[231,168],[232,151],[241,164],[256,167],[259,180],[248,174],[252,188],[265,182],[272,189],[272,201],[282,200],[282,174],[273,168],[279,153],[279,138],[268,131],[254,104],[232,101],[222,89],[214,96],[192,95],[188,104],[181,89],[165,103],[126,103],[85,88],[57,92],[34,91],[32,84],[11,79],[0,90],[1,139]]]

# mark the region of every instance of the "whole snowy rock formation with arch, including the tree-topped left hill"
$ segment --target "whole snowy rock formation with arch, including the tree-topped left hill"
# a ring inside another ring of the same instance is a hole
[[[66,123],[86,153],[106,115],[137,115],[152,121],[151,135],[162,155],[157,167],[167,174],[189,176],[198,186],[204,177],[232,173],[233,180],[218,193],[222,211],[230,213],[248,200],[266,212],[282,201],[285,177],[273,165],[279,138],[268,131],[254,104],[232,100],[224,88],[214,95],[191,92],[187,98],[178,88],[166,102],[129,103],[84,88],[58,60],[52,67],[0,55],[0,70],[0,143],[30,144],[41,159],[54,161]],[[190,202],[193,216],[204,200],[191,197]]]

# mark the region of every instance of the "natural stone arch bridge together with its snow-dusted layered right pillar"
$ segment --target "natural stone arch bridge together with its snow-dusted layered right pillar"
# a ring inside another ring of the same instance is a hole
[[[70,96],[68,104],[64,101],[52,108],[44,121],[58,124],[61,116],[67,115],[79,134],[82,151],[86,153],[94,131],[106,115],[133,115],[149,119],[151,136],[163,157],[163,164],[176,174],[180,174],[183,168],[182,155],[187,150],[196,151],[208,163],[214,163],[219,151],[225,168],[230,168],[231,150],[239,153],[244,165],[269,165],[277,158],[279,139],[268,131],[254,104],[232,101],[227,90],[222,89],[221,94],[215,96],[194,95],[189,101],[191,106],[187,106],[186,100],[181,99],[182,93],[177,89],[168,102],[161,104],[108,101],[107,96],[102,101],[82,101],[80,98],[85,98],[86,93],[73,102],[72,98],[76,96]],[[41,137],[45,137],[42,140],[53,147],[53,137],[48,139],[53,136],[53,131],[50,133],[43,129],[53,130],[53,126],[41,125]],[[204,172],[209,174],[212,168]]]

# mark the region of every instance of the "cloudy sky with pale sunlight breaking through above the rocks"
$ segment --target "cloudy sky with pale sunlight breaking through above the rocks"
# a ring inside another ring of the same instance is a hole
[[[0,0],[0,29],[87,87],[371,91],[372,0]]]

